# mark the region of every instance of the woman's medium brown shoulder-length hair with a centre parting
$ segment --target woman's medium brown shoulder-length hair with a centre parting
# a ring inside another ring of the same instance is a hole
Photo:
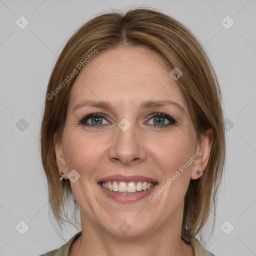
[[[150,8],[130,9],[126,13],[112,11],[90,19],[68,39],[56,61],[47,86],[40,131],[41,159],[51,210],[60,226],[63,221],[68,221],[64,202],[68,198],[74,199],[70,181],[59,181],[53,136],[56,134],[56,141],[61,139],[70,89],[80,71],[78,64],[86,68],[85,58],[95,50],[100,54],[108,48],[135,46],[152,49],[169,70],[178,67],[182,71],[183,75],[176,82],[185,96],[197,138],[209,128],[213,131],[207,166],[200,178],[190,180],[184,198],[181,238],[190,243],[191,237],[205,224],[211,205],[215,213],[225,160],[221,92],[199,41],[181,23]],[[70,73],[75,74],[65,80]],[[73,209],[77,208],[76,201],[73,202]]]

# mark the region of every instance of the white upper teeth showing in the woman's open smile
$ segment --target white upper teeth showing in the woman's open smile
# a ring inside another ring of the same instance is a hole
[[[120,181],[118,184],[118,181],[105,181],[101,182],[102,186],[108,190],[114,191],[114,192],[135,192],[135,191],[141,191],[149,189],[153,186],[152,182],[142,182],[138,181],[136,184],[135,182],[123,182]]]

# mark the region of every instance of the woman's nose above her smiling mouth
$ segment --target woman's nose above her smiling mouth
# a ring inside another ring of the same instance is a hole
[[[109,148],[109,159],[126,166],[144,161],[147,155],[146,145],[137,133],[134,125],[126,131],[117,126]]]

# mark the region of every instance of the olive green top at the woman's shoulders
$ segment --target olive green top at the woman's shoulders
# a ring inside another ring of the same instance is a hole
[[[75,241],[75,239],[78,238],[80,234],[81,231],[76,233],[67,243],[63,244],[58,249],[51,250],[40,256],[68,256],[68,251],[72,242]],[[204,249],[201,243],[195,237],[191,238],[191,245],[194,250],[194,256],[214,256],[212,253]]]

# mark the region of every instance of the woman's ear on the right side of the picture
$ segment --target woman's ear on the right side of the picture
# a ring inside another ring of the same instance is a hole
[[[210,149],[213,141],[213,131],[212,129],[208,129],[205,134],[201,134],[200,139],[198,139],[197,146],[196,146],[196,152],[200,152],[201,154],[197,154],[198,157],[196,160],[194,160],[192,171],[190,178],[191,179],[197,179],[199,178],[203,172],[201,172],[201,175],[197,174],[198,169],[201,169],[204,171],[204,169],[207,166],[209,155],[210,155]]]

